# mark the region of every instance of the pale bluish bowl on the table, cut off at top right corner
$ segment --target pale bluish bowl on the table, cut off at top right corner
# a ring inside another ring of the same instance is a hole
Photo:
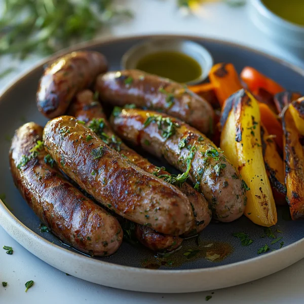
[[[299,0],[304,1],[304,0]],[[288,3],[288,0],[286,0]],[[304,26],[289,22],[273,13],[262,0],[250,0],[248,13],[253,23],[283,48],[304,58]],[[304,12],[303,12],[304,18]]]

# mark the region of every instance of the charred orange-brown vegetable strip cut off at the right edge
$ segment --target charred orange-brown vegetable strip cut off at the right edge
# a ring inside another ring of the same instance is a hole
[[[304,153],[301,137],[290,112],[282,112],[287,203],[292,219],[304,218]]]

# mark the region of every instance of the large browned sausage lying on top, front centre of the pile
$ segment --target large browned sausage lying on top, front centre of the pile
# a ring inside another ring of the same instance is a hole
[[[184,194],[109,148],[73,117],[49,121],[43,138],[59,168],[111,211],[164,234],[180,235],[191,227]]]

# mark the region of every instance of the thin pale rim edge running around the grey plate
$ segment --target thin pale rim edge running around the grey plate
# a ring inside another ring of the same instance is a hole
[[[296,65],[294,65],[290,62],[287,62],[287,61],[285,61],[281,58],[278,58],[278,57],[275,57],[273,55],[264,53],[260,50],[255,50],[251,47],[247,47],[245,45],[241,45],[241,44],[238,44],[238,43],[235,43],[235,42],[230,42],[230,41],[227,41],[227,40],[213,39],[213,38],[199,36],[199,35],[179,35],[179,34],[148,34],[148,35],[143,34],[143,35],[103,37],[101,39],[88,41],[88,42],[83,42],[83,43],[74,45],[72,47],[68,47],[68,48],[65,48],[63,50],[60,50],[60,51],[56,52],[54,55],[43,58],[42,60],[40,60],[39,62],[34,64],[32,67],[26,69],[24,72],[19,74],[18,77],[14,78],[11,82],[9,82],[8,85],[4,86],[4,88],[2,90],[0,90],[0,104],[3,100],[3,98],[5,97],[5,95],[9,94],[10,91],[13,90],[14,87],[17,86],[20,82],[22,82],[24,78],[29,77],[32,73],[34,73],[37,69],[41,68],[44,64],[46,64],[50,61],[53,61],[54,59],[58,58],[59,56],[62,56],[63,54],[73,52],[73,51],[77,51],[77,50],[84,50],[84,49],[88,49],[88,48],[92,48],[92,47],[96,47],[96,46],[108,45],[108,44],[115,43],[115,42],[124,42],[124,41],[128,41],[128,40],[132,41],[132,40],[137,40],[137,39],[169,38],[169,37],[171,37],[171,38],[174,37],[174,38],[179,38],[179,39],[188,39],[188,40],[193,40],[194,39],[194,40],[200,40],[201,42],[206,41],[206,42],[211,42],[211,43],[224,44],[224,45],[232,46],[232,47],[235,47],[235,48],[238,48],[238,49],[243,49],[243,50],[246,50],[246,51],[249,51],[249,52],[256,53],[260,56],[267,57],[268,59],[271,59],[273,61],[276,61],[277,63],[282,64],[282,65],[292,69],[293,71],[295,71],[296,73],[298,73],[299,75],[304,77],[304,69],[301,68],[301,67],[298,67],[298,66],[296,66]],[[296,241],[296,242],[294,242],[290,245],[287,245],[284,248],[281,248],[280,250],[276,250],[274,252],[269,252],[269,253],[261,255],[261,256],[256,256],[256,257],[253,257],[253,258],[249,258],[249,259],[246,259],[246,260],[233,262],[233,263],[225,264],[225,265],[213,266],[213,267],[208,267],[208,268],[197,268],[197,269],[155,270],[155,269],[145,269],[145,268],[139,268],[139,267],[131,267],[131,266],[116,264],[116,263],[107,262],[107,261],[103,261],[103,260],[97,260],[97,259],[85,256],[85,255],[82,255],[80,253],[67,250],[64,247],[58,246],[56,244],[53,244],[52,242],[50,242],[50,241],[46,240],[45,238],[41,237],[40,235],[36,234],[32,230],[30,230],[26,225],[24,225],[19,219],[17,219],[17,217],[6,207],[4,202],[0,199],[0,215],[1,215],[1,213],[2,213],[3,216],[6,217],[7,220],[10,221],[10,224],[15,226],[16,229],[19,229],[19,230],[21,230],[22,233],[27,234],[28,237],[30,237],[32,240],[36,239],[37,241],[44,243],[43,245],[46,246],[46,247],[49,247],[49,246],[51,248],[55,247],[56,250],[63,251],[63,253],[65,253],[65,254],[72,254],[73,257],[76,258],[76,259],[79,259],[79,261],[85,259],[86,262],[89,262],[89,263],[98,262],[98,263],[103,264],[105,267],[109,267],[111,269],[116,268],[119,271],[127,270],[127,271],[129,271],[133,274],[140,272],[140,273],[143,273],[143,274],[146,274],[146,275],[153,274],[153,275],[183,276],[184,274],[209,273],[212,270],[213,271],[221,271],[221,270],[224,271],[224,270],[227,270],[229,268],[236,267],[236,265],[245,267],[246,265],[248,265],[248,264],[250,265],[253,262],[257,262],[257,261],[264,261],[265,262],[268,259],[269,260],[272,259],[274,256],[284,254],[285,251],[289,251],[289,250],[292,250],[292,249],[295,250],[296,247],[299,244],[304,243],[304,238],[302,238],[302,239],[300,239],[300,240],[298,240],[298,241]],[[12,236],[4,226],[3,226],[3,228],[10,236]],[[13,239],[15,239],[15,238],[13,237]],[[303,257],[304,257],[304,253],[303,253]]]

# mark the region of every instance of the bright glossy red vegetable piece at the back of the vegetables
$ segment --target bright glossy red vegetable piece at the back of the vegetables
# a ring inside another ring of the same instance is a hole
[[[256,93],[260,88],[273,95],[284,91],[284,88],[278,83],[250,66],[243,68],[241,72],[241,79],[247,85],[248,90],[250,90],[252,93]]]

